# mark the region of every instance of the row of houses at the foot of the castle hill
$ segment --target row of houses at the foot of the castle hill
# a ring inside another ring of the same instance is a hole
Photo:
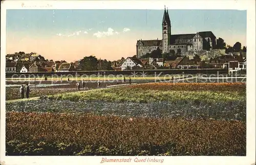
[[[201,61],[200,58],[189,59],[187,56],[177,57],[172,61],[164,59],[139,59],[136,57],[126,58],[119,66],[114,65],[114,70],[136,69],[199,69],[199,68],[228,68],[231,71],[246,69],[246,59],[241,56],[225,54],[216,59]]]

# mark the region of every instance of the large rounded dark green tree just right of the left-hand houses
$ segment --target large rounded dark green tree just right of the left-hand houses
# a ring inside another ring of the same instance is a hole
[[[98,59],[95,56],[84,57],[80,61],[82,70],[97,70]]]

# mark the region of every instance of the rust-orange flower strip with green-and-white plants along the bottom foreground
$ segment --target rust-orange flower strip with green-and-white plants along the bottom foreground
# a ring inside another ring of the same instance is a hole
[[[7,155],[245,155],[240,121],[7,113]]]

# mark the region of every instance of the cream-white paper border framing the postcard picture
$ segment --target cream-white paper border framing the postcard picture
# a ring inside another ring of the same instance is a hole
[[[23,4],[23,5],[22,5]],[[101,156],[5,156],[5,54],[7,9],[234,9],[247,10],[247,154],[167,156],[161,164],[255,163],[255,1],[2,1],[1,2],[1,162],[5,164],[101,164]],[[195,18],[196,19],[196,18]],[[120,156],[123,158],[123,156]],[[117,158],[115,156],[115,158]],[[136,164],[135,162],[131,162]],[[110,163],[108,163],[110,164]],[[124,163],[120,163],[124,164]],[[152,163],[153,164],[153,163]]]

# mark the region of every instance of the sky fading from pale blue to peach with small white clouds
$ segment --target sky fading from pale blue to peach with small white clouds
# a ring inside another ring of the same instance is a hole
[[[118,60],[137,40],[162,39],[164,10],[7,10],[7,53],[37,52],[48,60],[86,56]],[[246,10],[168,10],[172,34],[212,31],[246,46]]]

